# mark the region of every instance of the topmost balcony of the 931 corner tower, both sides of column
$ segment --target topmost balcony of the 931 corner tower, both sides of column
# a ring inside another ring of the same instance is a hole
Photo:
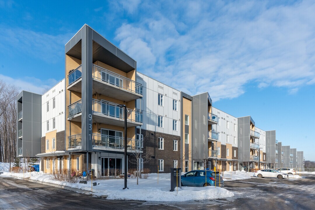
[[[73,75],[72,75],[73,74]],[[82,92],[81,66],[68,75],[68,90]],[[142,85],[127,77],[97,65],[92,65],[93,94],[101,94],[122,101],[132,101],[142,97]]]

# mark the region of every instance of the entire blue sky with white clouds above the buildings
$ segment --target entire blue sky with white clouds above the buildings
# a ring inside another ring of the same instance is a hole
[[[41,93],[64,77],[64,45],[84,23],[138,71],[251,115],[315,160],[313,1],[0,0],[0,78]]]

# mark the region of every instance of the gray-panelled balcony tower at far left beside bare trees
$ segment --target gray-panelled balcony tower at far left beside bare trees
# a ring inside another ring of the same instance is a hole
[[[16,156],[36,157],[36,154],[41,152],[42,95],[22,91],[17,96],[16,99],[17,99]],[[22,111],[21,119],[19,119],[20,111]],[[19,148],[22,148],[21,154],[19,154]]]

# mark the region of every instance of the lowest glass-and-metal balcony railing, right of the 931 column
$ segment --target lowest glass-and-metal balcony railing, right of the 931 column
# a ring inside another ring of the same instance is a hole
[[[92,144],[98,147],[109,147],[114,149],[124,149],[124,137],[102,135],[100,133],[92,133]],[[143,141],[139,139],[127,138],[127,149],[141,150]]]

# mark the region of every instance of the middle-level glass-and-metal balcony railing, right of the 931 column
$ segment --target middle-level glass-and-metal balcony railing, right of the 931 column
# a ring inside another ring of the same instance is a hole
[[[102,113],[106,116],[125,119],[125,111],[123,107],[96,99],[93,99],[92,103],[92,109],[94,112]],[[127,108],[127,120],[133,122],[142,122],[142,112]]]

